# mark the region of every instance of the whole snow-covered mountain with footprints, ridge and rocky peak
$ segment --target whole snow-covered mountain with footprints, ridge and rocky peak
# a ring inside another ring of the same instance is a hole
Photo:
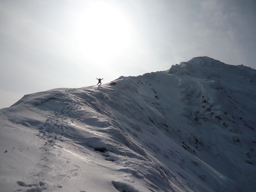
[[[256,71],[208,57],[0,110],[0,191],[256,191]]]

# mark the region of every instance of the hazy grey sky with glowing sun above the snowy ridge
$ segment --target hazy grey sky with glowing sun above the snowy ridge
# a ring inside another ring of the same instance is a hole
[[[0,0],[0,108],[208,56],[256,69],[255,0]]]

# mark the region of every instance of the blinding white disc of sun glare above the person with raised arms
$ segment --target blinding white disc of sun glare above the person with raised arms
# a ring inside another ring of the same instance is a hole
[[[80,40],[84,54],[95,61],[107,61],[131,42],[131,26],[116,7],[95,3],[81,20]]]

